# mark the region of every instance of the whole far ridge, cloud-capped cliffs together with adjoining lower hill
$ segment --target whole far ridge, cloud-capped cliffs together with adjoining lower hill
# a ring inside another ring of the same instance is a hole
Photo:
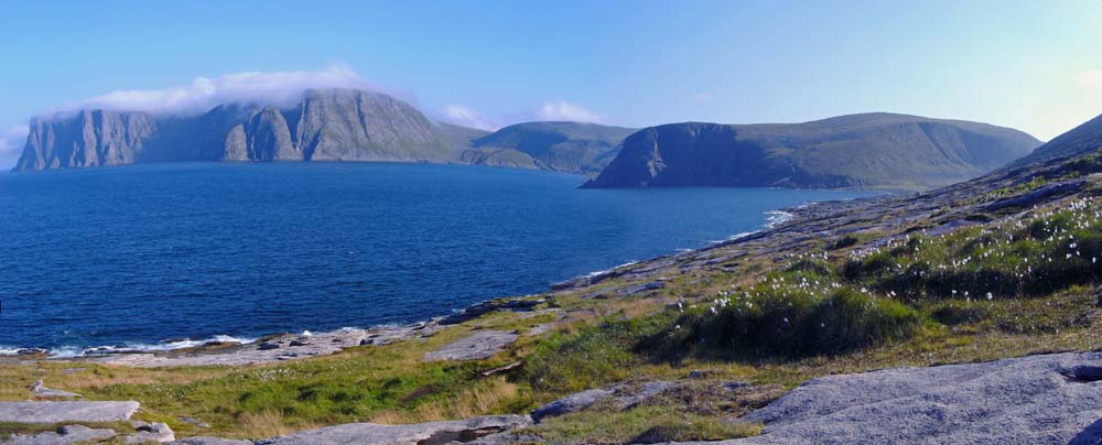
[[[530,122],[499,133],[435,122],[390,96],[309,89],[291,107],[190,117],[82,110],[31,120],[15,172],[175,161],[469,163],[595,173],[634,130]]]

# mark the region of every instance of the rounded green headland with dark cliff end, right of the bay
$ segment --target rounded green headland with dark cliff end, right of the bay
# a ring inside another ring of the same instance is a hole
[[[642,129],[584,187],[928,188],[975,177],[1040,142],[985,123],[893,113],[803,123]]]

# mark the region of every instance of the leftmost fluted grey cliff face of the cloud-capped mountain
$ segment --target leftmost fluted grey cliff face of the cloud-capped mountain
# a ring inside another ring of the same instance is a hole
[[[65,119],[33,119],[14,170],[130,164],[155,131],[154,119],[142,112],[96,110]]]

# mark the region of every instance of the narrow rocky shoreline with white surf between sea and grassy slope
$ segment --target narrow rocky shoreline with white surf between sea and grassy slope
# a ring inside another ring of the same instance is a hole
[[[123,343],[121,345],[101,345],[101,346],[89,346],[84,348],[63,346],[57,348],[42,348],[42,347],[10,347],[7,345],[0,345],[0,359],[22,359],[22,358],[34,358],[34,359],[47,359],[47,360],[94,360],[94,361],[127,361],[127,360],[112,360],[111,357],[125,357],[125,356],[156,356],[156,355],[174,355],[187,351],[197,351],[203,354],[208,350],[209,354],[215,354],[213,350],[229,351],[230,349],[240,349],[249,346],[258,346],[263,344],[266,340],[276,338],[312,338],[312,337],[335,337],[331,341],[337,344],[337,338],[346,337],[347,333],[386,333],[388,336],[406,336],[411,330],[421,330],[425,327],[432,326],[439,328],[441,325],[440,321],[447,318],[449,316],[454,316],[457,314],[463,314],[465,311],[472,310],[474,307],[485,306],[491,304],[493,302],[511,302],[529,299],[534,295],[550,294],[564,289],[571,289],[576,286],[580,282],[596,283],[604,281],[604,279],[618,276],[630,272],[636,268],[644,268],[648,263],[656,261],[661,261],[663,259],[670,259],[681,256],[692,256],[699,254],[701,252],[737,243],[741,241],[748,241],[756,239],[756,236],[761,234],[767,234],[770,230],[784,226],[788,223],[798,221],[812,216],[813,214],[821,213],[822,208],[836,209],[840,205],[853,202],[864,202],[868,199],[877,199],[883,196],[890,195],[876,195],[872,197],[856,197],[856,198],[845,198],[835,200],[824,200],[824,202],[808,202],[796,207],[781,207],[774,210],[766,210],[763,213],[765,216],[765,221],[760,229],[744,231],[732,235],[727,239],[719,241],[705,241],[704,246],[694,249],[683,249],[678,250],[672,253],[647,258],[644,260],[633,260],[627,261],[623,264],[615,265],[613,268],[593,271],[586,274],[576,275],[564,281],[552,283],[543,292],[530,294],[530,295],[512,295],[512,296],[499,296],[485,301],[479,301],[472,303],[462,308],[453,308],[451,314],[435,315],[421,318],[419,321],[413,321],[404,324],[380,324],[367,327],[339,327],[335,329],[326,329],[312,332],[311,329],[304,329],[300,334],[294,334],[290,332],[282,333],[269,333],[259,336],[245,336],[245,335],[212,335],[206,338],[192,339],[190,337],[185,338],[170,338],[159,340],[155,344],[148,343]],[[829,210],[828,210],[829,211]],[[359,337],[354,335],[354,337]],[[366,337],[366,335],[365,335]],[[357,341],[364,338],[357,339]],[[357,345],[350,345],[357,346]],[[339,349],[337,349],[339,350]],[[332,351],[335,352],[336,350]],[[329,352],[329,354],[332,354]]]

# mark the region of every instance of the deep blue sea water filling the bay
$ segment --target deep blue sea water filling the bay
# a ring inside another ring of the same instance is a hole
[[[0,349],[412,322],[858,195],[583,181],[360,163],[0,174]]]

